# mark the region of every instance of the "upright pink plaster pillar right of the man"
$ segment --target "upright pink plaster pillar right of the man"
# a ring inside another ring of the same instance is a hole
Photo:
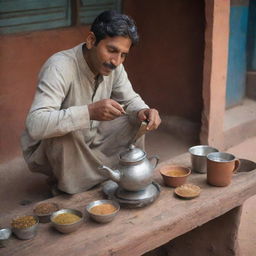
[[[223,122],[227,81],[230,1],[205,0],[202,144],[224,148]]]

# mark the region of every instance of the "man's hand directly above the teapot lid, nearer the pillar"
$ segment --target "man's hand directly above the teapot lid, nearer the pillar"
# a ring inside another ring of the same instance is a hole
[[[161,123],[161,118],[158,111],[154,108],[142,109],[138,112],[138,118],[140,121],[148,120],[147,130],[152,131],[157,129]]]

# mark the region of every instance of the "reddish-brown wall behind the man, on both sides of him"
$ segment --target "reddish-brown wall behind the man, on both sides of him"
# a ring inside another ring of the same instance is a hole
[[[125,63],[134,88],[162,114],[200,122],[203,0],[123,1],[141,41]],[[19,139],[37,73],[53,53],[83,42],[87,27],[0,36],[0,161],[21,154]]]

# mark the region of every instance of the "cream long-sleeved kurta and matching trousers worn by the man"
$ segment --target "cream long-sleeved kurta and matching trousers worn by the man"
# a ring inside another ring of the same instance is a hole
[[[54,175],[59,188],[68,193],[84,191],[102,181],[97,166],[115,164],[113,156],[120,150],[116,144],[124,147],[136,128],[118,120],[91,121],[88,104],[111,98],[123,104],[131,116],[148,108],[133,91],[123,65],[95,81],[82,45],[54,54],[43,65],[21,138],[30,169]],[[129,138],[123,140],[118,132]]]

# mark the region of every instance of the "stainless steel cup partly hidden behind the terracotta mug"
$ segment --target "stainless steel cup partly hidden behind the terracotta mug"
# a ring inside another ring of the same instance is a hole
[[[206,156],[212,152],[218,152],[219,150],[208,145],[197,145],[189,148],[188,151],[191,156],[192,170],[198,173],[206,173]]]

